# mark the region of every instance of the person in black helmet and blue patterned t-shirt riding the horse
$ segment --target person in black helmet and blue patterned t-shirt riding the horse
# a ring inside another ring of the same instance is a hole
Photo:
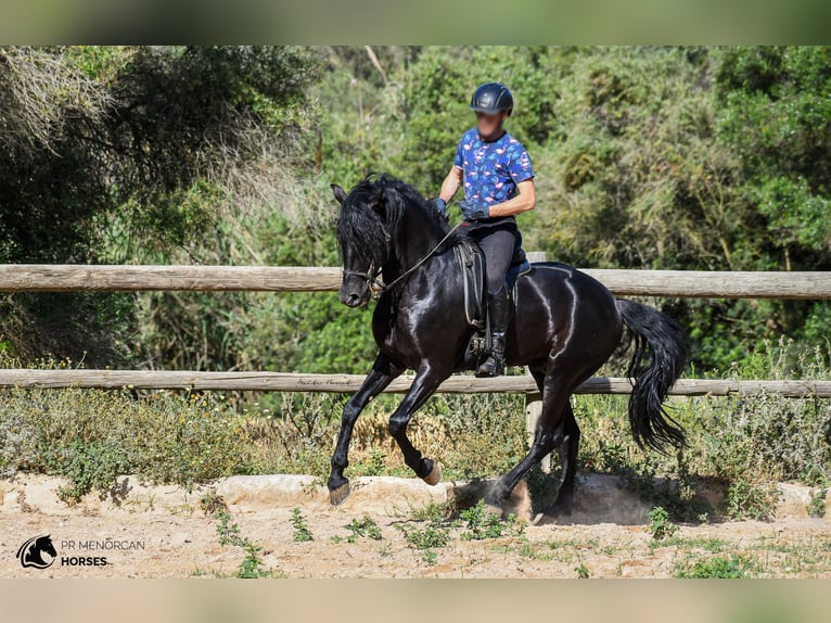
[[[525,148],[502,128],[513,110],[513,96],[508,87],[499,82],[481,85],[470,107],[476,112],[476,127],[462,135],[453,166],[435,204],[444,214],[447,202],[464,185],[464,200],[459,203],[462,229],[485,254],[493,345],[476,376],[496,377],[504,369],[509,315],[506,272],[520,240],[514,215],[534,209],[534,170]]]

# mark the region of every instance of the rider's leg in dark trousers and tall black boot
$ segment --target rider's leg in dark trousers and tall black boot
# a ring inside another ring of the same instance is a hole
[[[476,376],[496,377],[504,369],[504,331],[509,316],[504,275],[511,265],[515,238],[510,229],[485,230],[477,238],[485,254],[491,349],[488,358],[476,370]]]

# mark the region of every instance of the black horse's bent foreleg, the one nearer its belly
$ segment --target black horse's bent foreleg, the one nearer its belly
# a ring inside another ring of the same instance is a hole
[[[413,447],[407,437],[407,424],[412,415],[438,389],[442,381],[450,376],[450,371],[439,371],[435,368],[422,368],[416,374],[410,390],[398,405],[398,408],[389,417],[389,434],[393,435],[404,454],[404,462],[407,463],[416,475],[430,485],[436,485],[442,480],[442,467],[431,459],[422,457],[421,452]]]

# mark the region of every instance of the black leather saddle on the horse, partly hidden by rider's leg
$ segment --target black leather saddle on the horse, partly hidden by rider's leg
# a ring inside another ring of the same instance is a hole
[[[464,316],[468,325],[476,331],[471,338],[470,351],[473,355],[481,355],[490,349],[490,331],[488,330],[487,302],[486,302],[486,275],[485,254],[472,240],[464,239],[456,245],[456,256],[462,269],[462,282],[464,285]],[[525,257],[522,246],[516,246],[511,258],[511,265],[506,274],[506,289],[509,301],[516,301],[516,280],[530,272],[530,264]],[[511,305],[511,313],[515,304]]]

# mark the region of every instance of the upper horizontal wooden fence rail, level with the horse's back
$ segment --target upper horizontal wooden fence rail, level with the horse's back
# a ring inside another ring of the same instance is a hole
[[[831,272],[586,269],[614,294],[698,298],[831,298]],[[341,268],[306,266],[0,265],[0,291],[329,292]]]

